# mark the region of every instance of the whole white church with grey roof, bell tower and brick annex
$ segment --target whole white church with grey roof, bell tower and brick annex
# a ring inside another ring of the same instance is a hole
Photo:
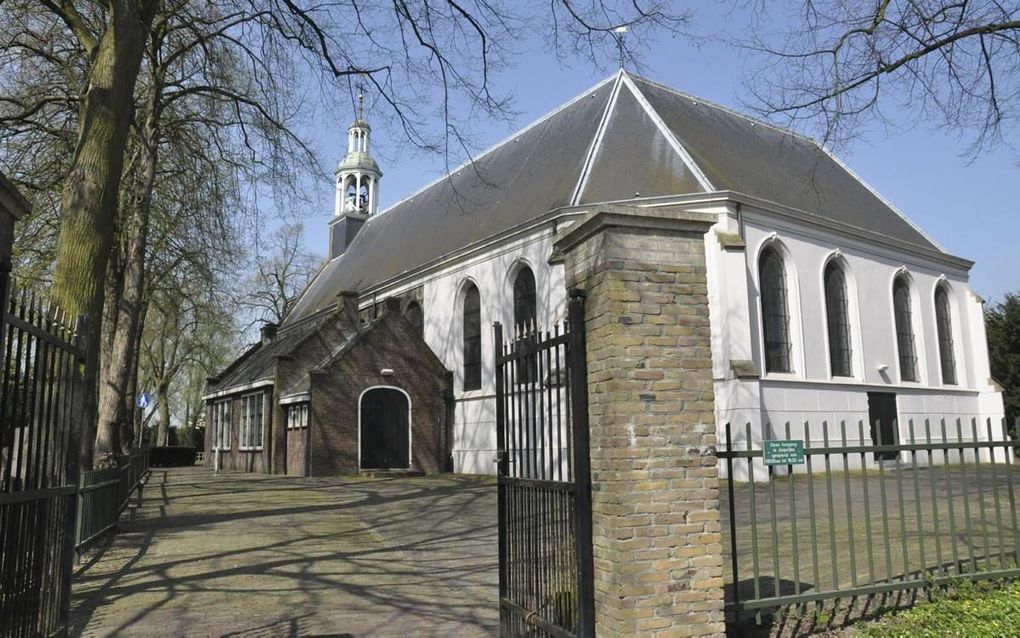
[[[712,372],[737,445],[745,424],[760,447],[786,423],[851,424],[854,445],[880,422],[870,445],[1002,418],[973,262],[810,139],[620,70],[378,211],[370,134],[359,108],[319,273],[209,380],[206,458],[225,470],[495,473],[492,326],[561,323],[554,240],[612,206],[718,218]]]

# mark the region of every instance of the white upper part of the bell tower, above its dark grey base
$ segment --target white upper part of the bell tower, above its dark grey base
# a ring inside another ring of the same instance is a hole
[[[369,152],[372,129],[364,118],[364,96],[358,96],[358,117],[347,131],[347,155],[337,166],[335,214],[365,217],[378,211],[379,178],[382,171]]]

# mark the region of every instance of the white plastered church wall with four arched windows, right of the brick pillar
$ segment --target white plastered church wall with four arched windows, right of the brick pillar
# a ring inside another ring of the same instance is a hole
[[[949,440],[958,438],[957,418],[963,420],[963,439],[974,438],[971,419],[978,420],[977,438],[987,438],[985,420],[988,419],[992,420],[993,436],[1002,436],[1002,396],[988,380],[983,315],[980,302],[967,283],[966,272],[856,238],[837,237],[792,225],[762,211],[745,209],[743,230],[747,249],[737,254],[743,257],[748,280],[747,296],[743,300],[748,309],[748,323],[741,325],[732,316],[727,317],[722,324],[724,330],[737,331],[742,335],[720,338],[719,343],[730,344],[730,350],[714,354],[721,359],[738,358],[734,354],[743,353],[743,347],[732,344],[743,343],[743,334],[747,334],[752,345],[752,358],[762,374],[760,381],[737,381],[727,374],[728,371],[717,365],[720,442],[726,423],[732,424],[734,444],[741,446],[746,445],[744,424],[751,423],[752,447],[760,446],[763,438],[786,438],[785,426],[788,423],[790,438],[810,438],[817,445],[823,439],[822,424],[825,423],[831,443],[842,443],[846,434],[848,444],[857,444],[861,442],[860,432],[863,429],[863,443],[870,444],[868,392],[897,394],[900,442],[910,441],[911,422],[914,437],[918,442],[923,440],[925,420],[931,421],[932,438],[941,439],[938,420],[942,418],[949,420]],[[764,346],[759,329],[758,257],[767,243],[781,244],[786,260],[794,366],[789,374],[765,372]],[[722,252],[711,246],[707,250],[709,253]],[[853,377],[850,378],[833,377],[829,366],[822,273],[826,262],[835,257],[836,250],[836,258],[846,266],[850,297],[853,348]],[[713,269],[720,269],[718,263]],[[909,277],[911,283],[911,309],[918,358],[916,383],[902,381],[899,365],[892,281],[902,273]],[[727,268],[723,277],[726,277],[726,296],[744,292],[740,286],[729,285],[738,278],[731,268]],[[957,383],[952,385],[942,383],[938,355],[934,293],[939,285],[949,287],[951,299],[957,369]],[[740,302],[729,298],[725,306]],[[760,412],[757,414],[754,406],[756,394],[760,397]],[[863,428],[860,425],[862,422]],[[805,423],[810,424],[807,430]],[[859,467],[859,457],[852,458],[851,467]]]

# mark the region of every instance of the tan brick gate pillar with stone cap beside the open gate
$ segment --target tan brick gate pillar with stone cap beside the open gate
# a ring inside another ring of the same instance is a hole
[[[705,233],[604,206],[557,238],[586,291],[596,630],[721,636],[722,533]]]

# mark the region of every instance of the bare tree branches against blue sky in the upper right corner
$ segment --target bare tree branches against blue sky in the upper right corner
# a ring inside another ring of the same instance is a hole
[[[750,82],[768,115],[808,120],[838,143],[896,104],[966,132],[972,156],[1009,143],[1020,121],[1016,1],[806,0],[789,23],[752,45],[769,60]]]

